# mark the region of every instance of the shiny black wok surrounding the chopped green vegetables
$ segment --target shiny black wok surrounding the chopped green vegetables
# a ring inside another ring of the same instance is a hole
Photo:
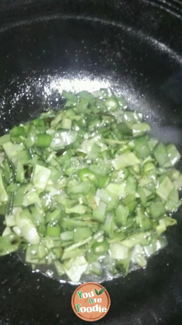
[[[110,86],[182,153],[181,32],[177,0],[1,0],[1,133],[58,107],[62,89]],[[145,270],[104,283],[111,306],[98,323],[182,323],[181,211]],[[75,288],[2,257],[0,324],[85,324],[71,308]]]

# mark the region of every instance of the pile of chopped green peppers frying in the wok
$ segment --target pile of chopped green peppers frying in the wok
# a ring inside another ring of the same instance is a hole
[[[73,282],[106,263],[113,274],[144,267],[176,224],[181,156],[111,90],[63,97],[0,137],[0,255],[23,249],[33,268],[54,264]]]

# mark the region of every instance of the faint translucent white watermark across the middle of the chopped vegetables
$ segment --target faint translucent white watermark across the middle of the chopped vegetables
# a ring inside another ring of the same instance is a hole
[[[83,157],[72,157],[71,158],[71,167],[73,169],[82,169],[89,166],[104,167],[111,164],[112,159],[109,158],[95,158],[95,159],[84,159]]]

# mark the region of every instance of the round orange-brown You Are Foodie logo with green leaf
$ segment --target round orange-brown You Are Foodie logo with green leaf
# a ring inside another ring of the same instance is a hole
[[[103,318],[109,307],[108,291],[96,282],[81,284],[73,293],[72,308],[74,313],[88,322]]]

